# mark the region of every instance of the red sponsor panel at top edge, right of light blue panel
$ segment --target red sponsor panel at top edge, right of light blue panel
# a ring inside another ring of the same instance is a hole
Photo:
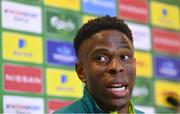
[[[148,23],[147,0],[119,0],[118,15],[127,20]]]

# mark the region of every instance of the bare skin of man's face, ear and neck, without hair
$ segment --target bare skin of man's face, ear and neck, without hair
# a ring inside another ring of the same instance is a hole
[[[133,43],[120,31],[103,30],[85,40],[78,54],[76,72],[99,107],[127,113],[136,76]],[[125,90],[115,89],[120,85]]]

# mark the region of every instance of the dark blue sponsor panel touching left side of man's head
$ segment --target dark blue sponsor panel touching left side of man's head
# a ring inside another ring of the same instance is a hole
[[[55,65],[74,66],[77,59],[72,43],[47,41],[48,63]]]

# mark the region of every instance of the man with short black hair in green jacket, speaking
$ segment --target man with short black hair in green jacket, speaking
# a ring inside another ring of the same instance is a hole
[[[142,113],[130,100],[136,77],[131,30],[104,16],[84,24],[74,39],[83,97],[55,113]]]

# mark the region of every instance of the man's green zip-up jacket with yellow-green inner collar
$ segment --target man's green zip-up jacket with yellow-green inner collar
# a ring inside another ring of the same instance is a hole
[[[131,114],[144,114],[141,111],[134,109],[131,101],[129,103],[129,113]],[[74,102],[73,104],[64,107],[55,111],[53,114],[59,113],[105,113],[99,106],[96,104],[95,100],[91,97],[86,87],[84,88],[84,95],[81,99]],[[116,114],[116,112],[112,112]]]

